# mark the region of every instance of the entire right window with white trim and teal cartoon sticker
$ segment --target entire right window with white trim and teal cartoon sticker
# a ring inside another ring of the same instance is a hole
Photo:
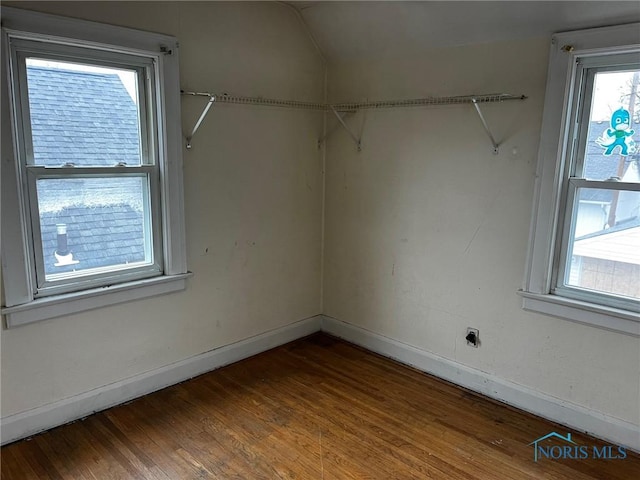
[[[551,50],[523,306],[640,335],[640,25]]]

